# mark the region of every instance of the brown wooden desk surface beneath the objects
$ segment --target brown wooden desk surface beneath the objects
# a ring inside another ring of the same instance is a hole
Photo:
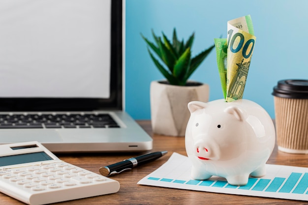
[[[200,191],[171,189],[164,187],[154,187],[139,185],[137,182],[156,170],[171,156],[173,152],[186,155],[185,138],[153,135],[150,121],[138,121],[138,123],[153,136],[153,151],[167,150],[168,153],[150,162],[147,165],[136,167],[131,171],[124,172],[120,175],[111,176],[111,178],[120,182],[119,192],[115,194],[91,197],[68,202],[57,203],[57,205],[259,205],[259,204],[288,204],[304,205],[308,202],[282,200],[262,197],[251,197],[241,195],[217,194]],[[94,173],[98,173],[101,166],[122,161],[124,159],[140,155],[141,153],[95,153],[95,154],[57,154],[65,162],[85,168]],[[143,153],[142,153],[143,154]],[[308,154],[287,154],[277,151],[275,147],[271,155],[269,164],[289,165],[289,166],[308,166]],[[72,203],[72,204],[71,204]],[[0,193],[1,205],[23,205],[23,203]]]

